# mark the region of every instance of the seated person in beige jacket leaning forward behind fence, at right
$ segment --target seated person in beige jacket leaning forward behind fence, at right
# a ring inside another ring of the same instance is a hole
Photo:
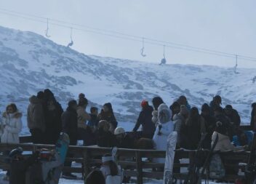
[[[228,129],[220,121],[217,121],[215,132],[212,134],[212,145],[215,142],[216,137],[218,137],[218,141],[214,151],[239,151],[247,148],[245,146],[236,147],[232,145],[231,140],[228,137]]]

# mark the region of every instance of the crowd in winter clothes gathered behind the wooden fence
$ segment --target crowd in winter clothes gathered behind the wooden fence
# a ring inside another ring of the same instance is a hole
[[[78,100],[68,102],[65,111],[49,89],[31,96],[29,102],[27,123],[33,143],[55,144],[60,132],[69,135],[71,145],[83,140],[83,145],[159,150],[167,149],[167,137],[172,131],[177,132],[177,148],[196,149],[205,134],[204,148],[210,148],[218,135],[215,147],[218,151],[241,149],[252,141],[252,134],[240,129],[241,119],[232,105],[221,106],[220,95],[213,97],[209,104],[204,103],[201,112],[191,107],[185,96],[180,96],[170,106],[161,97],[153,97],[153,106],[143,100],[133,133],[118,127],[111,103],[105,103],[100,113],[97,107],[91,107],[88,113],[88,100],[82,93]],[[7,105],[1,118],[1,143],[19,143],[21,117],[15,104]],[[255,131],[256,103],[252,103],[250,124]],[[136,132],[140,127],[138,137]],[[164,162],[164,159],[156,161]],[[66,162],[65,166],[71,166],[71,162]],[[75,177],[68,172],[63,175]]]

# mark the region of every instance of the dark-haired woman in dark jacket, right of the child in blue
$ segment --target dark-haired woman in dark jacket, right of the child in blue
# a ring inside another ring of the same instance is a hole
[[[103,109],[99,113],[99,120],[108,121],[108,123],[111,125],[111,132],[113,132],[116,129],[118,122],[116,121],[116,117],[113,114],[113,108],[111,103],[105,103],[103,105]]]

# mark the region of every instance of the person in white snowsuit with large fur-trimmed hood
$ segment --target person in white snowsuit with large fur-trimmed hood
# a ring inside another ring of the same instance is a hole
[[[153,135],[154,147],[157,150],[167,150],[167,137],[173,131],[172,111],[169,107],[162,103],[158,108],[159,124]],[[154,159],[158,163],[164,163],[165,159]]]

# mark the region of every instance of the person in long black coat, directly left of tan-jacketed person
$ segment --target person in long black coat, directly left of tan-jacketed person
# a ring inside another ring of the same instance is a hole
[[[78,121],[76,113],[77,103],[76,100],[71,100],[68,102],[68,108],[61,116],[63,132],[68,134],[70,139],[70,145],[76,145],[78,138]],[[69,154],[68,157],[73,157]],[[71,161],[65,161],[65,167],[71,167]],[[75,175],[71,175],[70,172],[63,172],[63,177],[68,179],[76,179]]]

